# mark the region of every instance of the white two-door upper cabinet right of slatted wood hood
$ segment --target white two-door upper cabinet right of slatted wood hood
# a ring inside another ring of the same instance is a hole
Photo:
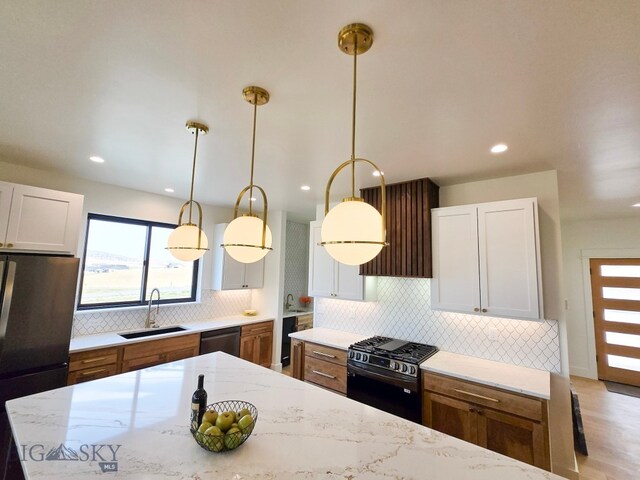
[[[542,317],[535,198],[437,208],[432,222],[433,309]]]

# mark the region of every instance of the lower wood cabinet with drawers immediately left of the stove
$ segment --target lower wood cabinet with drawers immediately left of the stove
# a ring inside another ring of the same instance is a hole
[[[293,339],[291,364],[294,378],[346,395],[346,351]]]

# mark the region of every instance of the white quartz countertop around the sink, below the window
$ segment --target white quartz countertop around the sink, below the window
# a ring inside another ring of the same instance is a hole
[[[121,337],[120,335],[118,335],[118,333],[131,333],[140,330],[127,330],[122,332],[98,333],[96,335],[83,335],[81,337],[74,337],[71,339],[71,343],[69,344],[69,353],[82,352],[84,350],[92,350],[94,348],[118,347],[131,343],[145,342],[167,337],[176,337],[179,335],[188,335],[190,333],[206,332],[210,330],[219,330],[221,328],[238,327],[242,325],[249,325],[251,323],[266,322],[268,320],[273,320],[273,317],[268,315],[233,315],[230,317],[212,318],[211,320],[181,323],[179,325],[160,325],[160,328],[180,326],[184,327],[185,330],[173,333],[161,333],[159,335],[151,335],[142,338],[132,338],[130,340]]]

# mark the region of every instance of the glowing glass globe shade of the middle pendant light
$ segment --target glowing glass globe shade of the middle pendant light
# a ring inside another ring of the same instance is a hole
[[[267,226],[264,246],[271,248],[271,242],[271,230]],[[262,245],[262,220],[258,217],[236,218],[224,230],[222,243],[227,253],[241,263],[257,262],[269,253],[267,248],[259,248]],[[240,247],[234,244],[255,245],[255,247]]]

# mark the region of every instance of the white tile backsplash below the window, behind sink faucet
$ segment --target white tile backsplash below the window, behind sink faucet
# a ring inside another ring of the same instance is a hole
[[[155,305],[153,307],[155,309]],[[161,305],[160,326],[238,315],[251,308],[251,290],[203,290],[200,303]],[[147,307],[76,312],[73,336],[144,328]]]

